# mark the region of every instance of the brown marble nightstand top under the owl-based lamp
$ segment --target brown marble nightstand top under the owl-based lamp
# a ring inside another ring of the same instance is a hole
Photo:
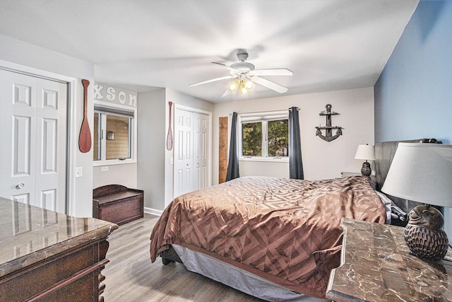
[[[343,219],[340,267],[326,298],[333,301],[452,301],[452,250],[440,262],[410,254],[404,228]]]

